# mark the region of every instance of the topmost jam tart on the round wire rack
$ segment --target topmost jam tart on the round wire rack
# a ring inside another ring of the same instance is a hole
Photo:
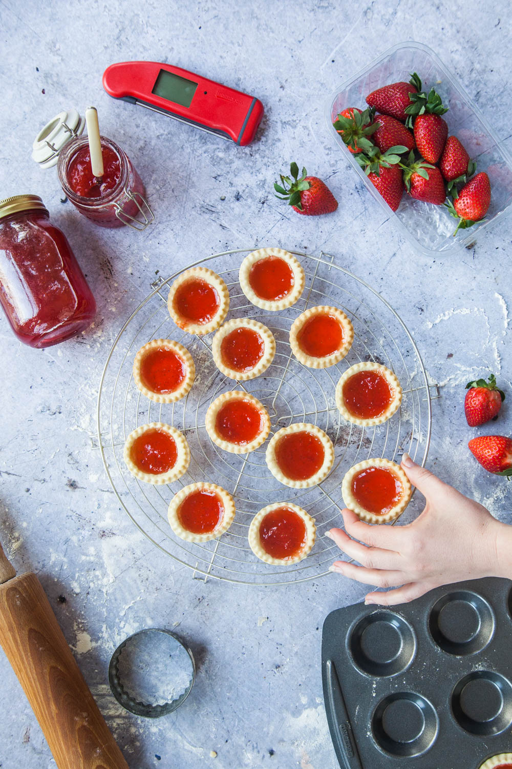
[[[282,248],[259,248],[240,265],[243,293],[263,310],[284,310],[295,305],[304,291],[304,270],[299,260]]]

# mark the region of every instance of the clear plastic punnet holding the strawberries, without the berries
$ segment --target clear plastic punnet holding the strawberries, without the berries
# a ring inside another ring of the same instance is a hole
[[[481,224],[459,230],[453,237],[457,220],[441,205],[432,205],[404,194],[398,211],[393,212],[368,180],[361,166],[348,151],[332,122],[347,107],[365,109],[366,96],[388,83],[401,80],[408,82],[410,74],[418,72],[425,90],[432,86],[438,91],[443,103],[449,107],[444,119],[448,123],[448,135],[457,136],[470,157],[477,162],[477,173],[485,171],[491,181],[491,206]],[[506,107],[504,102],[503,107]],[[345,158],[365,182],[371,195],[385,208],[405,238],[422,254],[432,256],[452,254],[473,243],[477,233],[502,221],[512,208],[512,157],[500,144],[487,125],[480,110],[457,83],[454,76],[442,64],[427,45],[405,42],[389,48],[368,67],[342,83],[325,106],[325,120],[329,132],[335,137]]]

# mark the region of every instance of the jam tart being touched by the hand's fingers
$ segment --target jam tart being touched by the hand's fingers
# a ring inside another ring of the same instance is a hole
[[[396,462],[366,459],[354,464],[342,481],[342,497],[347,508],[362,521],[385,524],[394,521],[411,499],[411,484]]]

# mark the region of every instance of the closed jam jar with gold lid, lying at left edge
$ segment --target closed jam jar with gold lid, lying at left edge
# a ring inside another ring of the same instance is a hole
[[[35,348],[80,334],[94,318],[91,289],[38,195],[0,201],[0,303],[18,339]]]

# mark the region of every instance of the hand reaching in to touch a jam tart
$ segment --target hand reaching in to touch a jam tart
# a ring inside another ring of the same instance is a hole
[[[335,561],[332,571],[378,588],[397,588],[374,591],[365,598],[366,604],[387,605],[412,601],[441,584],[512,576],[507,573],[510,564],[498,563],[499,541],[509,541],[510,527],[415,464],[408,454],[402,457],[401,467],[424,495],[424,511],[406,526],[375,526],[345,508],[347,534],[333,528],[327,535],[362,565]]]

